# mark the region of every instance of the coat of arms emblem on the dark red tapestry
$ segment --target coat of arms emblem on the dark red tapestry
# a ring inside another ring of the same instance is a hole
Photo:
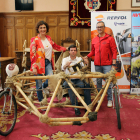
[[[85,5],[85,8],[89,10],[89,12],[92,12],[99,9],[101,6],[101,3],[99,0],[86,0],[84,5]]]

